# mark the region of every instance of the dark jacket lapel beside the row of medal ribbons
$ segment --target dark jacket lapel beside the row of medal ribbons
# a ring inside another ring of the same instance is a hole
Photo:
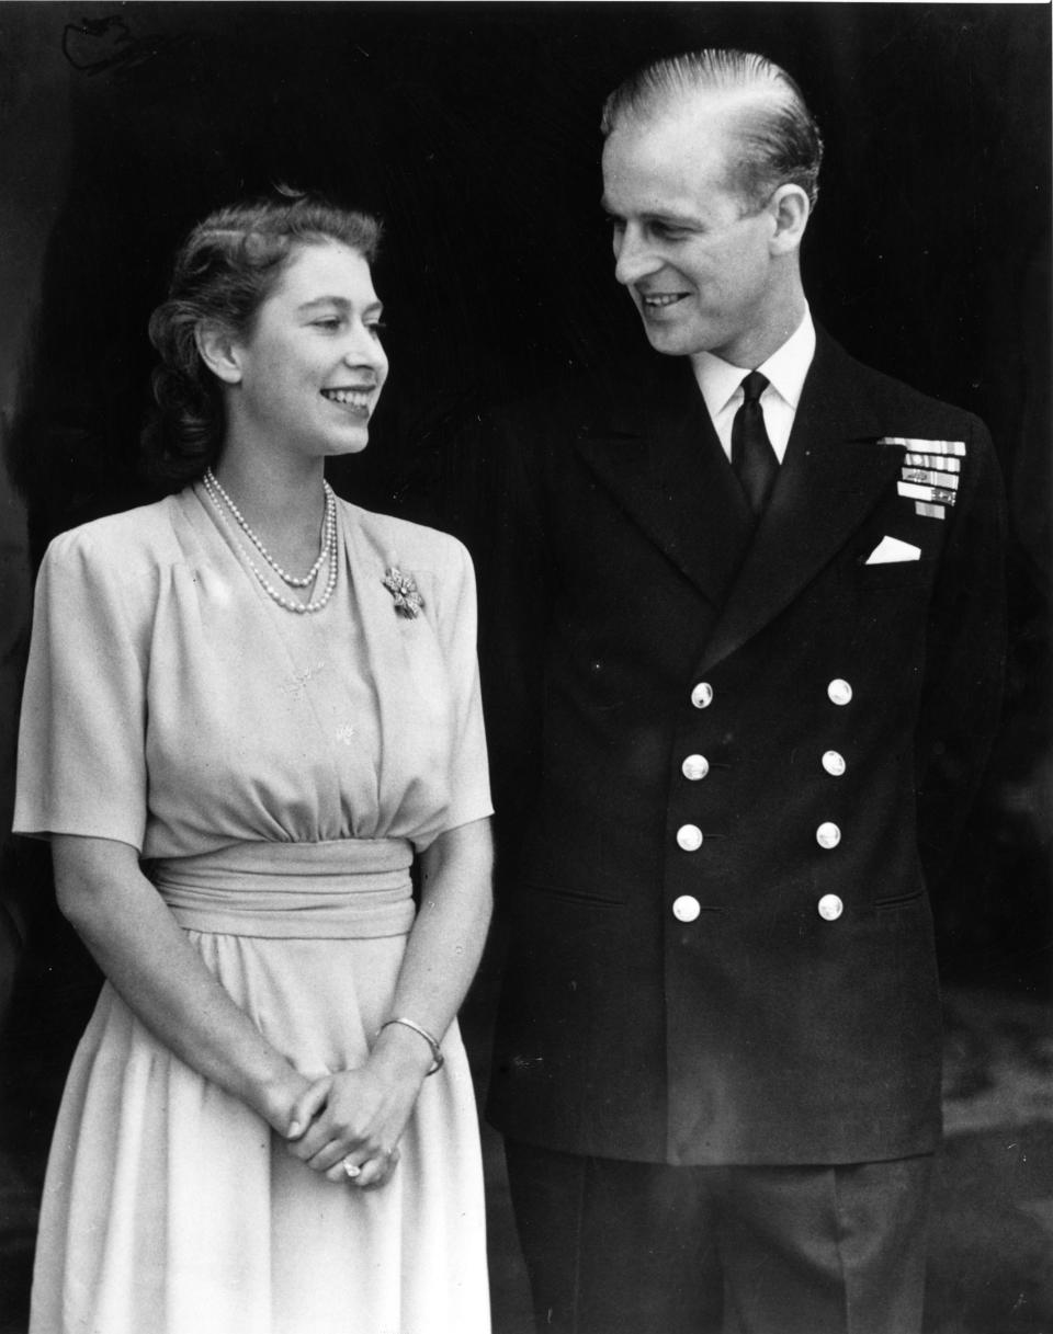
[[[777,616],[874,508],[902,463],[881,434],[855,363],[821,334],[775,490],[699,671]]]

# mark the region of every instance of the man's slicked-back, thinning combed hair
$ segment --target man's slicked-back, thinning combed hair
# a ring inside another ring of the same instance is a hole
[[[811,205],[819,192],[822,136],[794,80],[766,56],[705,48],[666,56],[630,75],[603,104],[606,139],[623,119],[647,121],[695,93],[738,93],[737,151],[727,181],[749,211],[763,208],[779,185],[799,185]]]

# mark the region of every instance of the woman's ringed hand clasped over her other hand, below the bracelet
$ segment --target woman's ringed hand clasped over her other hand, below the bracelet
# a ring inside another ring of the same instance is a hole
[[[423,1054],[402,1042],[378,1042],[364,1066],[316,1081],[294,1111],[294,1121],[307,1129],[290,1137],[290,1153],[328,1181],[384,1185],[431,1063],[427,1047],[416,1042]]]

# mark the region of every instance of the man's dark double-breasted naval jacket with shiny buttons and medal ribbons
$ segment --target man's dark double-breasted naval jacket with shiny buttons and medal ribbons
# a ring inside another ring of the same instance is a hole
[[[929,1151],[928,894],[1004,663],[989,435],[819,332],[754,531],[690,362],[651,362],[503,427],[490,1119],[667,1163]]]

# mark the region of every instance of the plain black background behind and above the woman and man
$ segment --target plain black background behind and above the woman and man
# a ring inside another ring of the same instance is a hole
[[[15,550],[31,571],[55,532],[155,496],[136,454],[145,321],[171,253],[208,209],[278,180],[386,219],[375,279],[392,372],[367,455],[338,463],[334,483],[471,543],[472,420],[642,339],[598,207],[602,99],[645,60],[706,44],[774,57],[819,119],[803,259],[815,319],[994,435],[1013,526],[1009,694],[938,928],[949,982],[1045,998],[1045,5],[0,4],[0,243],[21,303],[17,347],[0,340],[21,367],[3,419]],[[35,159],[49,152],[63,169],[44,207]],[[11,719],[27,616],[5,603],[19,619],[0,640]],[[7,743],[0,760],[9,803]],[[29,944],[0,1131],[36,1162],[95,979],[49,907],[39,850],[8,842],[4,876]]]

